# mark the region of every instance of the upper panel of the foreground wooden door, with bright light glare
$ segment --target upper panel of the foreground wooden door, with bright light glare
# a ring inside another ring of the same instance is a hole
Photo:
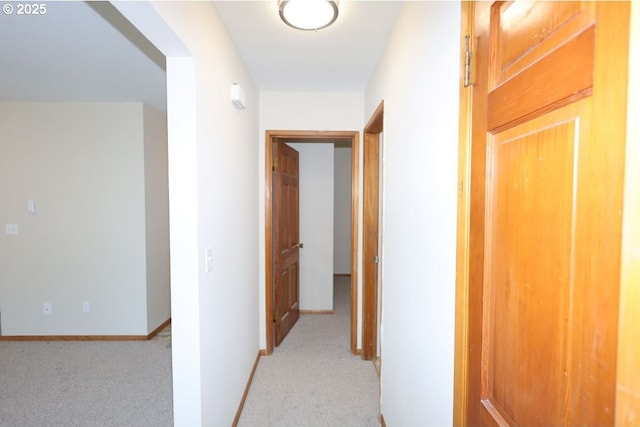
[[[489,90],[547,56],[594,22],[591,1],[496,2],[491,11],[495,61]]]

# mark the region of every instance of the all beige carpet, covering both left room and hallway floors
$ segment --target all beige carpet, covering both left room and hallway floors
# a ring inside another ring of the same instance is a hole
[[[380,426],[375,367],[349,351],[349,288],[336,279],[334,314],[302,315],[260,358],[240,427]],[[172,425],[170,326],[150,341],[0,341],[0,427]]]

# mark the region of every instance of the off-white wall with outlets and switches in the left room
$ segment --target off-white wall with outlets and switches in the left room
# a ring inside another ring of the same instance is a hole
[[[167,235],[147,236],[167,228],[166,206],[145,213],[146,196],[166,199],[166,182],[145,191],[145,161],[150,177],[166,165],[164,117],[146,118],[134,103],[0,103],[3,335],[146,335],[169,317],[168,267],[156,258]],[[158,161],[145,156],[145,130]],[[18,234],[4,234],[6,223]]]

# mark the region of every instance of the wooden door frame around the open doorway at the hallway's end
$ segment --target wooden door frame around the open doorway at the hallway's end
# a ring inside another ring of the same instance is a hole
[[[358,131],[302,131],[267,130],[265,132],[265,355],[273,353],[273,223],[272,223],[272,142],[333,143],[336,140],[351,140],[351,353],[356,354],[358,316],[358,197],[359,197],[359,143]]]

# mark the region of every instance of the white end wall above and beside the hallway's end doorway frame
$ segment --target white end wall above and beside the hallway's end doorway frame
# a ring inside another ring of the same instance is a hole
[[[266,348],[264,147],[266,130],[349,130],[364,126],[363,93],[260,92],[258,233],[260,348]],[[359,298],[361,301],[362,298]],[[359,309],[360,313],[360,309]],[[360,314],[358,314],[360,316]],[[358,333],[360,336],[360,333]]]

